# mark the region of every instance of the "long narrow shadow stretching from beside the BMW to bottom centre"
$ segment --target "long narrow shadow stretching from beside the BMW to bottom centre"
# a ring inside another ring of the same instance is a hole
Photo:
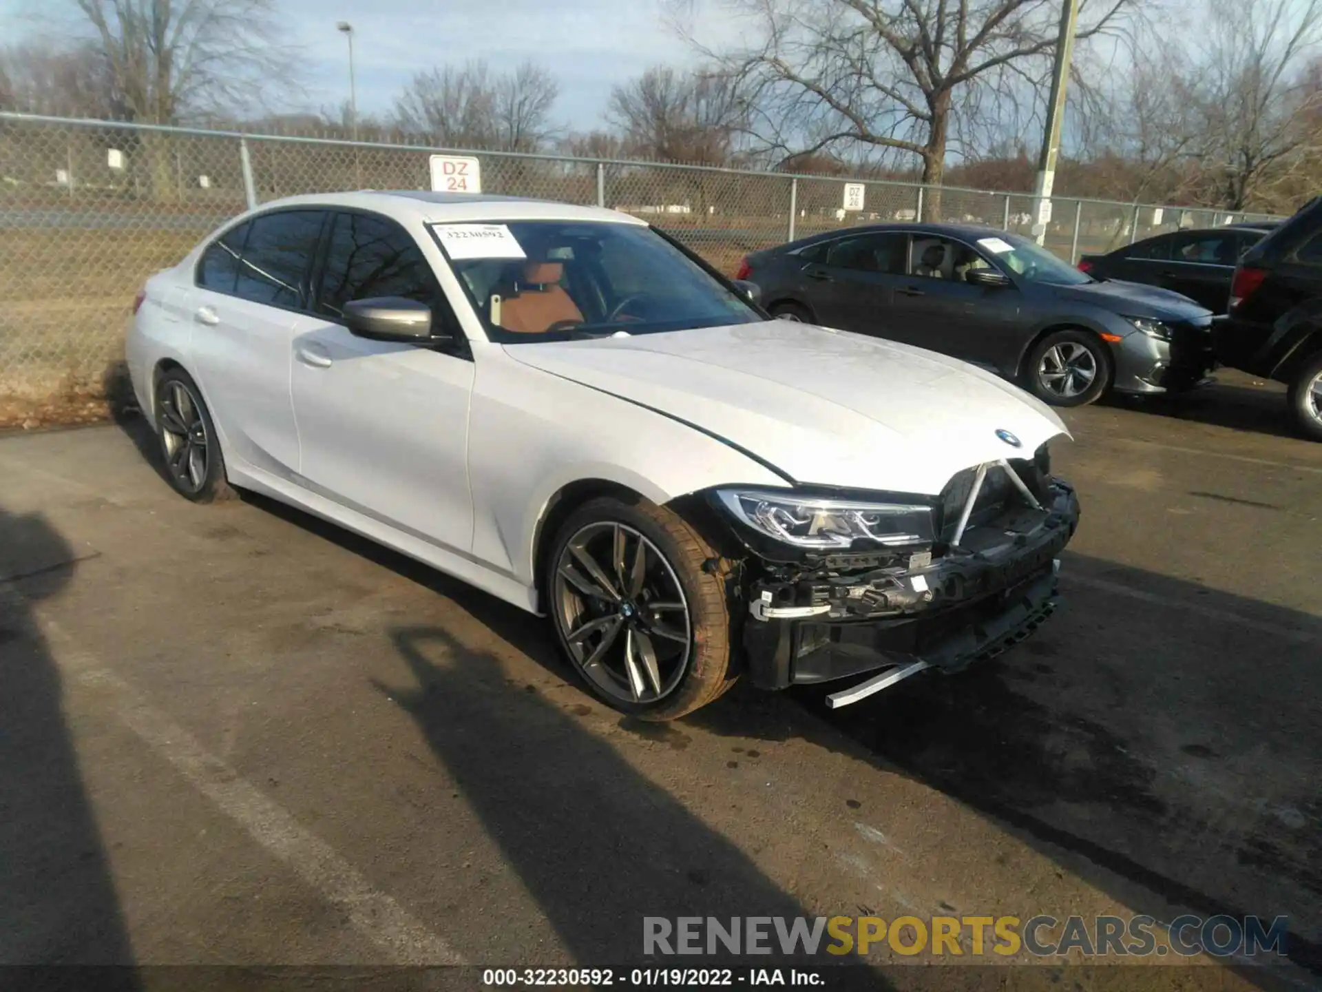
[[[399,627],[391,639],[414,684],[378,688],[418,722],[574,960],[642,962],[645,915],[804,915],[739,848],[607,741],[541,693],[512,692],[494,656],[439,627]]]

